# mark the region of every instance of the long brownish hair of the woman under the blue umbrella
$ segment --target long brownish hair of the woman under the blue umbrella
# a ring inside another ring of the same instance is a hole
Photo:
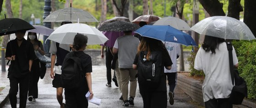
[[[147,51],[147,60],[150,59],[152,51],[167,51],[162,41],[142,36],[141,42],[138,46],[138,53],[140,51]]]

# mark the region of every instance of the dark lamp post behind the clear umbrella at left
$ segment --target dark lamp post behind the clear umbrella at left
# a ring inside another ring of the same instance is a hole
[[[50,11],[51,11],[51,0],[44,0],[44,15],[43,15],[44,19],[50,14]],[[44,22],[44,26],[51,28],[51,22]],[[46,52],[45,56],[50,57],[50,54],[49,54],[50,41],[46,41],[47,37],[48,36],[44,36],[44,51]]]

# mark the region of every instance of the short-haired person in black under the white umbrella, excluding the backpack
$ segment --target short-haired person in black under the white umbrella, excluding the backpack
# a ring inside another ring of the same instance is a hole
[[[74,38],[73,48],[75,51],[68,53],[64,59],[64,62],[72,56],[79,57],[83,67],[82,75],[85,76],[82,79],[81,86],[76,89],[65,88],[65,108],[88,108],[88,101],[85,94],[89,91],[91,93],[90,99],[93,98],[92,91],[92,58],[84,53],[87,46],[87,36],[77,34]]]

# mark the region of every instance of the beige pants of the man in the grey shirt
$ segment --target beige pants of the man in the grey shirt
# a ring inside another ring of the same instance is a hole
[[[137,87],[137,70],[132,68],[119,68],[122,83],[122,97],[124,100],[128,100],[128,84],[130,80],[130,97],[135,97]]]

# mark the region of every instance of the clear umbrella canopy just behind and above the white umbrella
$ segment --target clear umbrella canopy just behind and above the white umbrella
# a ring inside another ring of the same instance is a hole
[[[99,22],[92,14],[82,9],[72,7],[56,10],[48,15],[43,22],[63,22],[63,21],[77,21],[80,22]]]

